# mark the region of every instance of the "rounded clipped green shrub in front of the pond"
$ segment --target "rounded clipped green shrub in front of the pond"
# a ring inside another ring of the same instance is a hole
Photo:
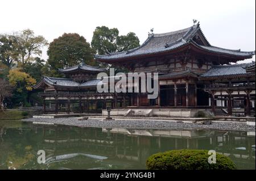
[[[208,163],[208,150],[171,150],[148,157],[147,169],[153,170],[234,170],[236,165],[216,153],[216,163]]]

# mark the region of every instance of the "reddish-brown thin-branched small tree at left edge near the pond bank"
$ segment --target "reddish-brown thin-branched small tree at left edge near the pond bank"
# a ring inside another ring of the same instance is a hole
[[[3,100],[5,98],[10,97],[13,91],[13,86],[9,84],[9,82],[5,81],[4,79],[0,78],[0,110],[3,110]]]

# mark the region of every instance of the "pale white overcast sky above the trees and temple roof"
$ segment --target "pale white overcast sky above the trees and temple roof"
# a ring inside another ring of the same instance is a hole
[[[120,35],[135,32],[142,44],[151,28],[154,33],[175,31],[192,26],[192,19],[200,21],[214,46],[255,50],[255,0],[0,0],[0,33],[30,28],[49,42],[64,32],[90,42],[97,26],[107,26],[118,28]]]

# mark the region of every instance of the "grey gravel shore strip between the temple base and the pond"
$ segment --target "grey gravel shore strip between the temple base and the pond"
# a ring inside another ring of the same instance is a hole
[[[67,118],[31,118],[23,121],[40,123],[54,123],[60,125],[72,125],[78,127],[98,127],[98,128],[130,128],[130,129],[218,129],[226,131],[252,131],[255,126],[246,123],[236,122],[212,122],[211,125],[201,125],[197,123],[176,123],[171,121],[151,121],[151,120],[112,120],[101,121],[100,119],[78,120],[78,117]]]

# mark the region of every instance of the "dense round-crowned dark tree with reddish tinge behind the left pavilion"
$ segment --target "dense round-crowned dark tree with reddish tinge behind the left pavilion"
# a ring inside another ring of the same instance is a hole
[[[59,68],[67,68],[85,62],[89,65],[95,65],[93,61],[94,50],[83,36],[77,33],[64,33],[62,36],[54,39],[47,51],[49,71],[57,72]]]

